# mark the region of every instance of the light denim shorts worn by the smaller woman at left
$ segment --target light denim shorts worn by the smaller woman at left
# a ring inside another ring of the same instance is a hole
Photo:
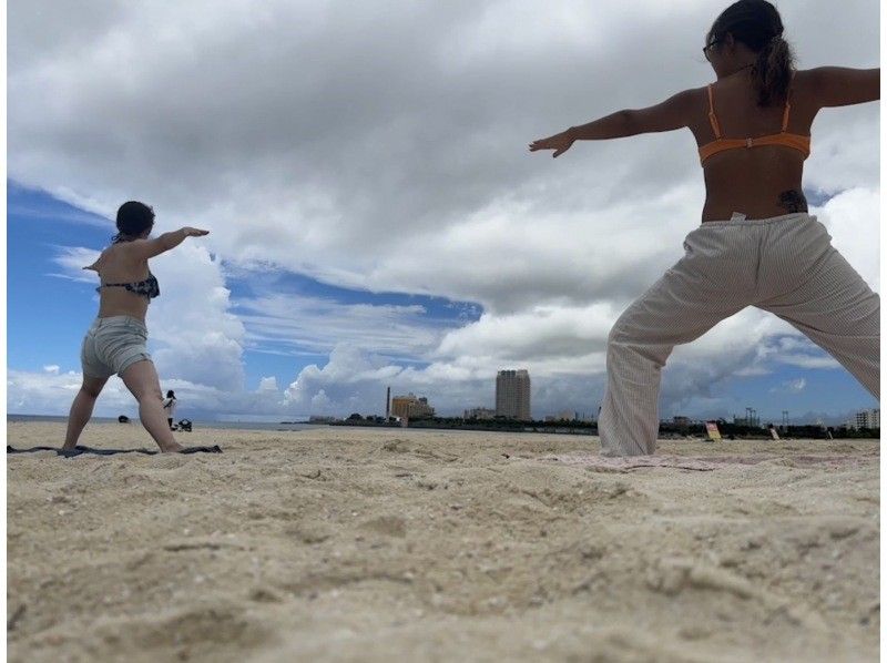
[[[136,361],[150,361],[146,343],[147,327],[137,318],[128,315],[95,318],[80,349],[83,375],[109,378],[121,375]]]

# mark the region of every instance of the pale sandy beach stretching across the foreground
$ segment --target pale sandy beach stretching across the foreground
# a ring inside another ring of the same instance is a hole
[[[7,456],[10,661],[878,657],[878,440],[663,441],[686,467],[604,471],[587,436],[179,439],[224,453]]]

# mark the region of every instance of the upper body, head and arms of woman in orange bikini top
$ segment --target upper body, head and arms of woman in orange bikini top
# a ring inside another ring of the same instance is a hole
[[[806,212],[801,180],[810,136],[805,133],[824,108],[878,100],[880,70],[822,67],[795,71],[779,13],[765,0],[740,0],[725,9],[712,24],[703,53],[717,75],[715,85],[685,90],[646,109],[623,110],[571,126],[533,141],[530,151],[552,150],[557,157],[578,140],[689,128],[705,171],[703,221],[727,218],[731,210],[747,211],[754,218]],[[727,101],[716,113],[718,98]],[[782,110],[778,133],[773,132],[779,126],[776,109]],[[788,131],[789,121],[796,133]],[[757,129],[743,129],[751,126]],[[757,147],[771,147],[771,152],[758,159]],[[792,153],[801,153],[802,159],[793,159]]]

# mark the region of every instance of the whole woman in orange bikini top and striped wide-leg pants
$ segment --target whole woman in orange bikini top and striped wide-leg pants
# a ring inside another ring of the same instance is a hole
[[[689,129],[700,150],[702,224],[684,257],[610,332],[598,421],[604,456],[654,452],[661,370],[674,346],[746,306],[793,325],[880,397],[880,298],[807,214],[801,187],[814,118],[879,99],[880,70],[796,71],[779,13],[764,0],[727,7],[702,50],[714,83],[530,145],[559,156],[578,140]]]

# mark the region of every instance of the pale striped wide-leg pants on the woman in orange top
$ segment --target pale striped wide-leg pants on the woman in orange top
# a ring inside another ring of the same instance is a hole
[[[703,223],[685,255],[619,317],[606,344],[598,421],[603,456],[655,451],[662,367],[746,306],[803,332],[880,398],[880,298],[832,246],[815,216]]]

